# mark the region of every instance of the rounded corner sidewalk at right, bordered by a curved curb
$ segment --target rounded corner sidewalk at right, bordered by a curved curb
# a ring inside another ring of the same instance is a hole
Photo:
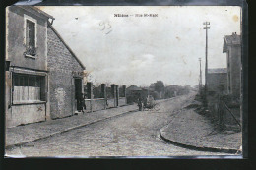
[[[216,132],[210,120],[194,109],[182,109],[160,130],[160,137],[172,144],[202,151],[236,153],[242,133]]]

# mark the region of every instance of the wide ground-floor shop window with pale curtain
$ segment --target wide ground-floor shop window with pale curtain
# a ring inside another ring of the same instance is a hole
[[[43,76],[13,75],[13,102],[44,101]]]

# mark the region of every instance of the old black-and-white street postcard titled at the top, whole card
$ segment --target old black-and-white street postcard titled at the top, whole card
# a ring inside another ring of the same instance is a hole
[[[6,8],[6,157],[242,156],[240,6],[35,1]]]

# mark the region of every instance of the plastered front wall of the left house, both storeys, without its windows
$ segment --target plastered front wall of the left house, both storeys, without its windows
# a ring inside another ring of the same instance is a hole
[[[36,46],[37,52],[34,58],[26,57],[25,41],[25,15],[36,20]],[[38,17],[39,14],[29,12],[17,6],[6,9],[6,59],[11,61],[11,66],[22,67],[24,74],[33,75],[30,69],[46,71],[46,17]],[[6,127],[15,127],[22,124],[35,123],[45,120],[46,101],[26,104],[12,104],[12,72],[6,71],[5,80],[5,115]],[[47,74],[45,74],[47,75]],[[46,77],[46,76],[45,76]],[[43,93],[44,95],[45,93]],[[47,100],[47,98],[45,98]]]

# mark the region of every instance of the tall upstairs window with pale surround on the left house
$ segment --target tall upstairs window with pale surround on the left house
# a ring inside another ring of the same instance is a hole
[[[26,45],[26,56],[35,56],[36,55],[36,20],[30,16],[24,16],[24,37]]]

